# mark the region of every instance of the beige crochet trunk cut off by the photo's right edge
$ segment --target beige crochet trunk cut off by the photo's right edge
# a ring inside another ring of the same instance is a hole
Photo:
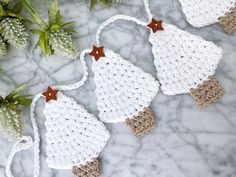
[[[223,17],[219,18],[219,23],[227,33],[236,30],[236,5],[226,12]]]

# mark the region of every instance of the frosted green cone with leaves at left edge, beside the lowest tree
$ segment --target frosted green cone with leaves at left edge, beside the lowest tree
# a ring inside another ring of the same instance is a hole
[[[21,95],[24,84],[13,90],[5,98],[0,96],[0,131],[9,139],[18,139],[23,135],[22,107],[32,102],[30,95]]]

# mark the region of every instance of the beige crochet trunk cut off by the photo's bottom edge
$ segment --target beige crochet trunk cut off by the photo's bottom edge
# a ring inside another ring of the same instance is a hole
[[[101,164],[97,159],[80,167],[73,167],[74,177],[101,177]]]

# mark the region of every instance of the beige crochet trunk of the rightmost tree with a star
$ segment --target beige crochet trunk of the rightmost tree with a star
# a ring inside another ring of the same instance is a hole
[[[224,95],[224,89],[214,77],[204,81],[196,89],[191,89],[191,96],[198,106],[209,106]]]

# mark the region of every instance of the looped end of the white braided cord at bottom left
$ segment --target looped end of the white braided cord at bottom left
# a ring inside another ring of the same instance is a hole
[[[32,145],[33,145],[33,140],[30,136],[23,136],[21,139],[16,141],[7,159],[7,164],[6,164],[6,169],[5,169],[7,177],[14,177],[11,172],[11,163],[15,154],[21,150],[26,150],[30,148]]]

